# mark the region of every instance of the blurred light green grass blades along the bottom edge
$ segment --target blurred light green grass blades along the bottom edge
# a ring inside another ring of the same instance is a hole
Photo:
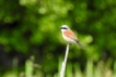
[[[33,56],[32,56],[33,57]],[[16,74],[18,70],[12,70],[9,73],[5,73],[3,77],[59,77],[60,72],[54,73],[54,74],[46,74],[42,72],[42,67],[34,63],[34,60],[28,59],[25,62],[25,70],[22,73]],[[112,59],[108,59],[106,61],[106,64],[103,61],[100,61],[96,65],[93,65],[92,60],[88,60],[85,69],[82,72],[80,68],[79,63],[70,63],[68,62],[67,65],[67,73],[65,77],[115,77],[116,72],[111,69]],[[59,66],[61,62],[59,59]],[[114,64],[116,65],[116,63]],[[114,69],[115,66],[113,67]]]

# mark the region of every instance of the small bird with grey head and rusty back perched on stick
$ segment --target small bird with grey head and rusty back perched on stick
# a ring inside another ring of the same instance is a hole
[[[73,34],[73,31],[67,26],[67,25],[62,25],[60,27],[61,31],[62,31],[62,37],[66,41],[68,41],[69,43],[72,42],[77,42],[81,48],[84,48],[79,40],[77,39],[76,35]]]

